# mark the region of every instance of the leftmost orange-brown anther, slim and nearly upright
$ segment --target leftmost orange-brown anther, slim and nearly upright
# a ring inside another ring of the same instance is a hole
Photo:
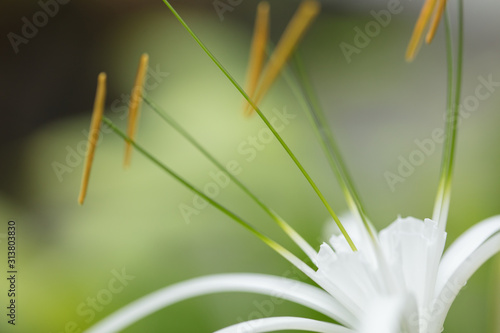
[[[106,100],[106,74],[100,73],[97,77],[97,92],[94,101],[94,111],[92,112],[92,120],[90,122],[89,139],[87,144],[87,154],[85,156],[85,165],[83,168],[82,185],[80,187],[80,195],[78,203],[83,205],[87,194],[89,184],[90,169],[94,160],[94,152],[99,139],[99,131],[101,129],[102,115],[104,113],[104,103]]]

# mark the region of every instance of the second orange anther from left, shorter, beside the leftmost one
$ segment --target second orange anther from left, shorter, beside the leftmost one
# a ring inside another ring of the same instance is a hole
[[[142,90],[144,86],[144,79],[146,77],[146,71],[148,69],[149,56],[144,53],[139,61],[139,68],[137,69],[137,75],[135,77],[134,87],[132,88],[132,94],[130,96],[130,106],[128,111],[128,130],[127,136],[134,140],[135,133],[137,132],[137,122],[139,120],[139,106],[142,99]],[[130,165],[130,158],[132,154],[132,146],[130,142],[125,143],[125,159],[123,165],[127,168]]]

